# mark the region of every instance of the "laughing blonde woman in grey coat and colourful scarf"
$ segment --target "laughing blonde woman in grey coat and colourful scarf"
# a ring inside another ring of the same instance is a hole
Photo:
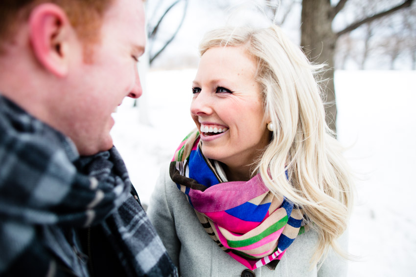
[[[342,276],[352,188],[311,65],[277,26],[200,44],[197,129],[149,216],[183,277]]]

